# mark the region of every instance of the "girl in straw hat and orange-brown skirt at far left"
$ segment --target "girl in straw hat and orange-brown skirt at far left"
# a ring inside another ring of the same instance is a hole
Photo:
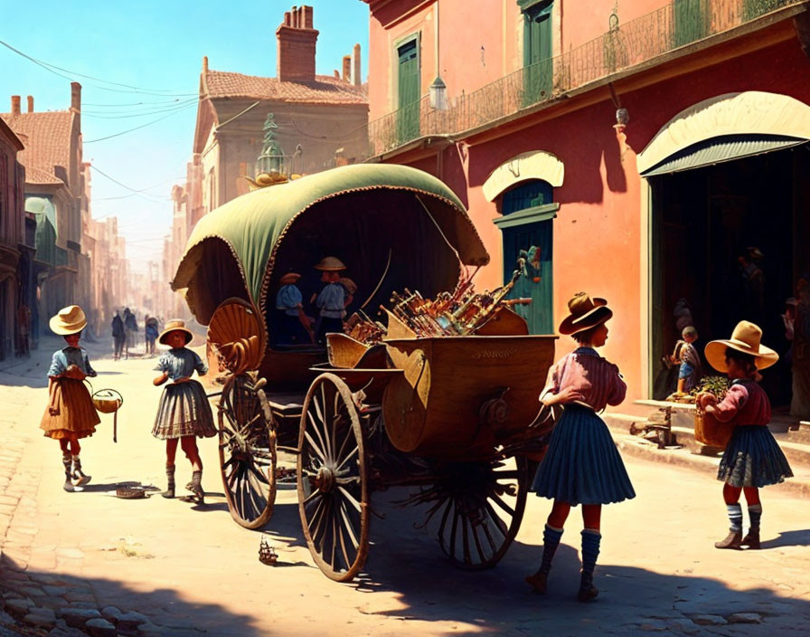
[[[68,345],[53,354],[48,369],[48,407],[42,415],[40,429],[48,438],[59,441],[65,470],[63,489],[80,491],[81,485],[90,481],[90,476],[81,471],[79,440],[93,435],[100,422],[83,382],[88,376],[96,376],[87,352],[79,347],[81,330],[87,326],[87,318],[78,305],[71,305],[60,309],[50,325]],[[76,485],[73,480],[76,480]]]

